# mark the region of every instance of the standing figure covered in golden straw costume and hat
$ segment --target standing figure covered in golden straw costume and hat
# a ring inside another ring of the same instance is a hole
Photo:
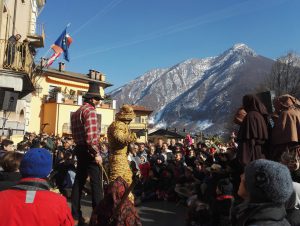
[[[132,182],[132,172],[127,160],[127,147],[136,141],[136,134],[129,130],[129,123],[135,118],[129,105],[123,105],[116,114],[116,120],[108,127],[107,136],[110,146],[109,179],[114,181],[121,176],[129,185]]]

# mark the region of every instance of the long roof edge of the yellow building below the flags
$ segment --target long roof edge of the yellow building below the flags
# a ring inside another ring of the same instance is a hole
[[[54,69],[54,68],[43,68],[43,73],[51,74],[51,76],[57,78],[71,79],[77,82],[83,82],[83,83],[96,82],[99,83],[104,88],[112,86],[111,83],[91,79],[86,74],[75,73],[71,71],[59,71],[58,69]]]

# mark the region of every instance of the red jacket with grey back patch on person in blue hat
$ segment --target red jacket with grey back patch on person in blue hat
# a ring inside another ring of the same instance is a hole
[[[25,178],[21,181],[44,181]],[[73,226],[66,199],[48,190],[0,192],[0,226]]]

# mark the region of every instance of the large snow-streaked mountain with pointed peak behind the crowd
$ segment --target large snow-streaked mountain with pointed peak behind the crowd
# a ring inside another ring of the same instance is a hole
[[[255,92],[273,61],[236,44],[216,57],[189,59],[167,69],[155,69],[112,91],[118,105],[142,105],[154,110],[159,127],[220,132]]]

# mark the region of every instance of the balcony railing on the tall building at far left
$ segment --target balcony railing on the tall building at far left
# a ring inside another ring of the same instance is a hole
[[[33,54],[28,43],[0,39],[0,68],[31,74],[33,63]]]

